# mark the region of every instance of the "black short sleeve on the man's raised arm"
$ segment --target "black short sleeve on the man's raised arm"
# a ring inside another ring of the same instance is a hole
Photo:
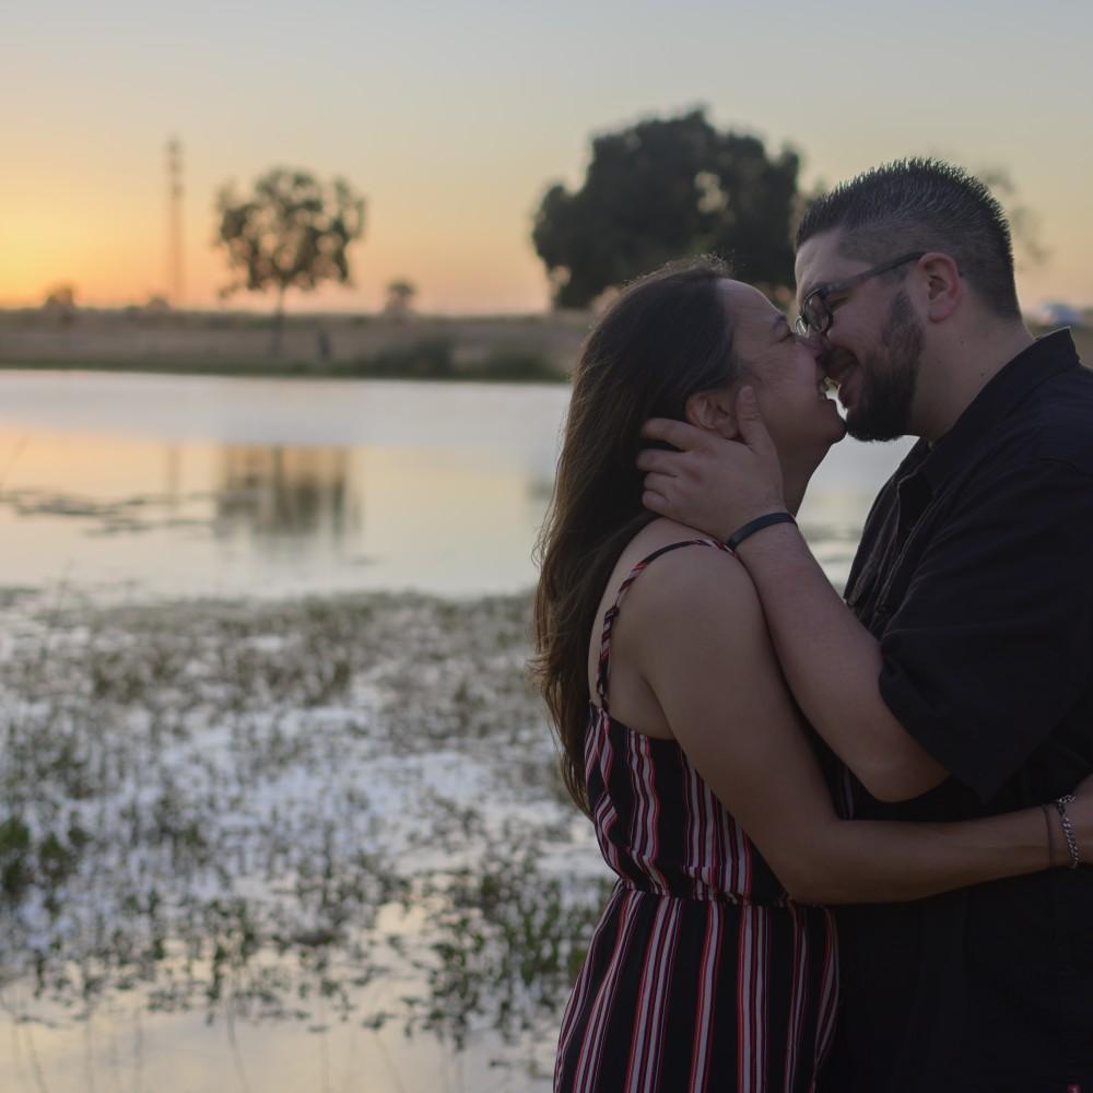
[[[984,475],[926,548],[884,632],[881,695],[986,802],[1089,687],[1091,600],[1089,469],[1036,459]]]

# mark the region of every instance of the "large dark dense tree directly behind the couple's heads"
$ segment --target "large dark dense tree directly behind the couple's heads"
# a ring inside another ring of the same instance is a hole
[[[757,137],[718,131],[701,109],[595,138],[581,188],[555,184],[536,214],[554,304],[587,307],[606,289],[703,252],[785,294],[799,166],[791,149],[768,156]]]

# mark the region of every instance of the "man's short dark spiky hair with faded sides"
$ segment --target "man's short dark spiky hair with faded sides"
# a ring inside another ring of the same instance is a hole
[[[940,160],[897,160],[842,183],[804,214],[797,249],[836,230],[843,233],[839,252],[859,261],[940,250],[991,312],[1021,316],[1006,213],[990,190],[961,167]]]

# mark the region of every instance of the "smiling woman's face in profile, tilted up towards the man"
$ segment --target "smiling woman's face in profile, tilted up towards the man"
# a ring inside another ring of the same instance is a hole
[[[846,426],[827,398],[815,342],[795,334],[757,289],[722,281],[720,291],[733,324],[733,350],[744,368],[741,385],[754,389],[783,462],[804,458],[819,463]]]

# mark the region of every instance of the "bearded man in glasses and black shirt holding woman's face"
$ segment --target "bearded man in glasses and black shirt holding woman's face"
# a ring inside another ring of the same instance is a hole
[[[1001,209],[943,163],[822,198],[797,282],[851,435],[921,438],[869,515],[853,612],[790,520],[752,522],[785,503],[747,389],[743,443],[648,424],[681,450],[643,453],[646,504],[737,537],[848,814],[1053,801],[1093,769],[1093,373],[1025,329]],[[1093,869],[847,908],[839,939],[825,1090],[1093,1093]]]

